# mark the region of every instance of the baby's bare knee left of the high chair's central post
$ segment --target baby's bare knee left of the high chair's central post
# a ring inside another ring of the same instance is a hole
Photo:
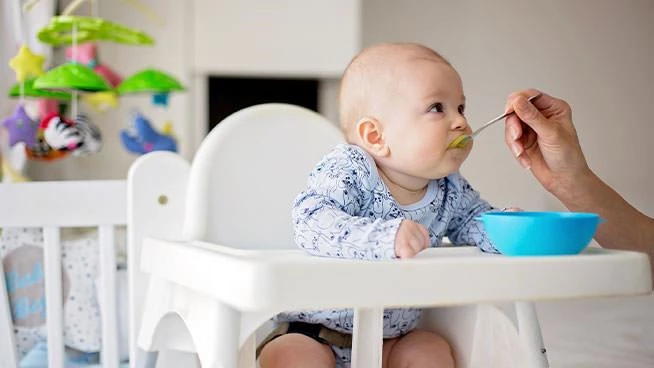
[[[298,333],[270,341],[259,355],[261,368],[334,368],[336,360],[329,345]]]

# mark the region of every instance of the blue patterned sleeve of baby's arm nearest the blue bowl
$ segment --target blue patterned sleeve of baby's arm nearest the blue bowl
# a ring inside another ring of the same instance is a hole
[[[476,219],[494,208],[480,198],[479,192],[459,174],[448,177],[452,180],[451,190],[458,191],[458,200],[452,204],[452,220],[447,227],[447,236],[456,245],[476,245],[485,252],[497,253],[486,236],[484,226]]]

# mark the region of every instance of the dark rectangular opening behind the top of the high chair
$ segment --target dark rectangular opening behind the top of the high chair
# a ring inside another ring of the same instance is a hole
[[[318,111],[318,79],[209,77],[209,131],[224,118],[262,103],[289,103]]]

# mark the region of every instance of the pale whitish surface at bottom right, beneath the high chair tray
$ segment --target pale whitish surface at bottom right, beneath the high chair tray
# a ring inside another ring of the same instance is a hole
[[[654,296],[538,304],[552,368],[654,367]]]

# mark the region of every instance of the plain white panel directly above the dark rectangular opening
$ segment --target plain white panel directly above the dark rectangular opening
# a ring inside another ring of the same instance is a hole
[[[195,0],[194,73],[338,78],[361,43],[360,0]]]

